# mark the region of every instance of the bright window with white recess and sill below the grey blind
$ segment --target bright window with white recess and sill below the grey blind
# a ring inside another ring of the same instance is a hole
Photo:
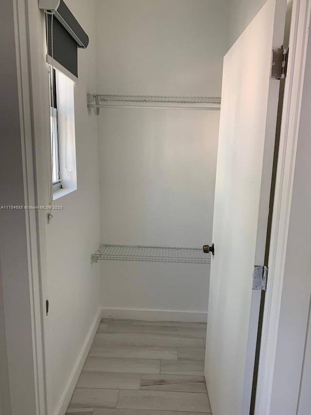
[[[50,66],[50,123],[53,199],[77,189],[74,82]]]

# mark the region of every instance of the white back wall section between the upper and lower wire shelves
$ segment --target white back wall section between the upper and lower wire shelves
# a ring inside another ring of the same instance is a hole
[[[103,242],[201,247],[212,232],[219,111],[103,108]]]

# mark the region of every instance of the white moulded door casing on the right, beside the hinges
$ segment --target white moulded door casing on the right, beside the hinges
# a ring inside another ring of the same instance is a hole
[[[310,25],[310,0],[295,0],[290,55],[284,91],[276,195],[269,253],[269,279],[264,307],[255,415],[271,414],[278,327],[292,203],[298,127]],[[286,364],[284,362],[284,364]]]

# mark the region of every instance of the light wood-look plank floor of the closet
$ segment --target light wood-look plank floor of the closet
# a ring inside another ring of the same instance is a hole
[[[67,414],[207,415],[206,324],[102,320]]]

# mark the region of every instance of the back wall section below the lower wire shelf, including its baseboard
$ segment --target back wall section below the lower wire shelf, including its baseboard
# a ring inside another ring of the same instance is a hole
[[[207,321],[209,265],[103,262],[101,298],[105,317]]]

